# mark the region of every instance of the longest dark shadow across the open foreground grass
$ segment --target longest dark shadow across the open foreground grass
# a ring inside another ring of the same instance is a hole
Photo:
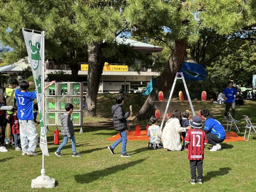
[[[121,164],[121,165],[116,165],[116,166],[113,166],[113,167],[109,167],[109,168],[106,168],[106,169],[103,169],[103,170],[97,170],[97,171],[93,171],[93,172],[82,174],[82,175],[75,175],[74,176],[75,181],[77,183],[81,183],[81,184],[90,183],[92,181],[98,180],[102,177],[106,177],[106,176],[111,175],[113,173],[123,171],[127,168],[130,168],[130,167],[136,165],[136,164],[142,163],[145,160],[146,159],[140,159],[140,160],[137,160],[137,161],[132,161],[132,162],[129,162],[129,163],[124,163],[124,164]]]

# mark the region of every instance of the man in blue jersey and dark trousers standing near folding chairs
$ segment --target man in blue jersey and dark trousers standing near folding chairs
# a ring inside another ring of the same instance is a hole
[[[232,117],[235,119],[235,112],[236,112],[236,103],[235,103],[235,95],[236,90],[233,88],[233,82],[228,82],[228,87],[226,87],[223,91],[224,99],[226,100],[226,109],[224,114],[224,119],[227,120],[227,113],[226,111],[229,111],[230,107],[232,109]]]

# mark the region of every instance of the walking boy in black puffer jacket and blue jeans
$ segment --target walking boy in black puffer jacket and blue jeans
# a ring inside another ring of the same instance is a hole
[[[113,115],[113,122],[114,127],[116,131],[120,132],[120,138],[111,146],[108,146],[109,151],[112,154],[114,153],[115,147],[122,142],[122,154],[121,157],[130,157],[131,155],[127,154],[125,151],[126,143],[127,143],[127,134],[126,134],[126,128],[127,128],[127,121],[126,119],[129,116],[129,112],[124,112],[124,109],[122,105],[124,104],[124,96],[123,95],[117,95],[116,96],[116,105],[112,106],[112,113]]]

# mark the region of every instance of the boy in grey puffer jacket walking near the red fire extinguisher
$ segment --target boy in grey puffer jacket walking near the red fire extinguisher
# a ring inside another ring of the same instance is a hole
[[[81,154],[76,152],[76,139],[75,139],[75,132],[73,127],[73,119],[71,118],[71,113],[73,113],[74,106],[71,103],[67,103],[65,105],[65,109],[67,113],[63,113],[60,116],[61,119],[61,135],[63,136],[63,143],[60,144],[57,151],[54,153],[55,155],[61,157],[61,149],[67,145],[68,138],[71,140],[71,146],[73,155],[72,157],[80,157]]]

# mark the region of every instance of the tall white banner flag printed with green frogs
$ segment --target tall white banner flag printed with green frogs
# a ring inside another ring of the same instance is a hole
[[[39,110],[38,112],[41,125],[39,146],[42,150],[42,153],[49,156],[46,131],[44,127],[44,31],[36,31],[37,33],[34,33],[34,30],[31,31],[32,32],[27,32],[24,30],[24,28],[22,28],[28,51],[28,59],[31,65],[36,86],[36,96]]]

